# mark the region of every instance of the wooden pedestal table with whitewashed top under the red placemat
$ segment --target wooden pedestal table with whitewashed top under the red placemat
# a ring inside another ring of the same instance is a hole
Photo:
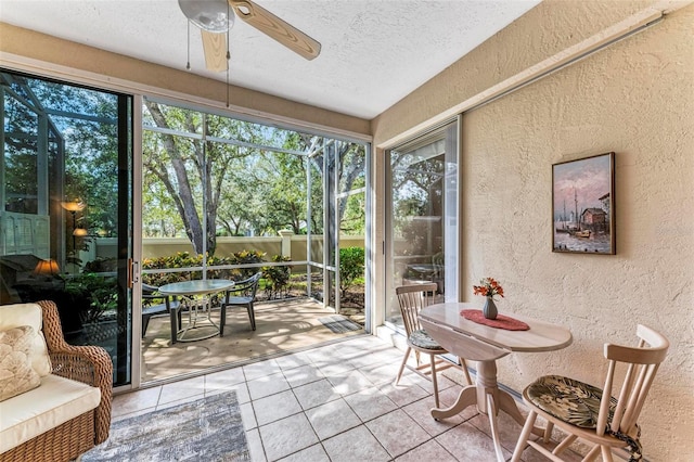
[[[477,380],[475,385],[464,387],[457,401],[447,409],[432,409],[436,420],[458,414],[472,405],[477,405],[479,412],[489,416],[492,440],[497,459],[503,462],[499,442],[497,413],[501,409],[518,424],[525,424],[513,397],[499,388],[497,383],[497,359],[511,352],[540,352],[566,348],[571,344],[568,329],[532,318],[504,313],[515,320],[525,322],[527,331],[507,331],[479,324],[461,316],[463,309],[479,309],[474,304],[447,303],[423,308],[420,321],[426,332],[453,355],[466,360],[477,361]],[[536,435],[543,435],[542,428],[534,428]]]

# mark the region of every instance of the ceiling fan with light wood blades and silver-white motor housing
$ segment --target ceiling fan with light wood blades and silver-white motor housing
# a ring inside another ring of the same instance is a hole
[[[227,34],[235,16],[279,41],[307,60],[321,52],[321,44],[250,0],[178,0],[181,11],[201,28],[205,65],[209,70],[227,70]]]

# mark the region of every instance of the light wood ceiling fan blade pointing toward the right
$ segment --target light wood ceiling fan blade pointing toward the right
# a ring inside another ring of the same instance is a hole
[[[268,10],[258,7],[250,0],[228,0],[236,16],[275,39],[290,50],[307,60],[317,57],[321,52],[321,44],[291,24],[280,20]]]

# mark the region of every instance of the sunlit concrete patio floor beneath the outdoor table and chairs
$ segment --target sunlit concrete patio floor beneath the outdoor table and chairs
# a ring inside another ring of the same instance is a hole
[[[142,339],[142,383],[190,376],[364,333],[363,329],[332,332],[320,319],[335,313],[308,298],[257,303],[255,312],[256,331],[250,330],[246,310],[234,308],[227,312],[223,337],[217,335],[174,345],[168,315],[152,318]],[[211,318],[219,323],[218,309],[213,310]]]

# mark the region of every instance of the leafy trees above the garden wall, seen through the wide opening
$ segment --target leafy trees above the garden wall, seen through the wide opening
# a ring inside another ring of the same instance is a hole
[[[197,254],[215,255],[218,235],[305,234],[309,224],[322,233],[325,182],[342,192],[365,184],[361,144],[149,100],[143,120],[145,236],[184,233]],[[336,205],[340,229],[363,232],[363,194]]]

